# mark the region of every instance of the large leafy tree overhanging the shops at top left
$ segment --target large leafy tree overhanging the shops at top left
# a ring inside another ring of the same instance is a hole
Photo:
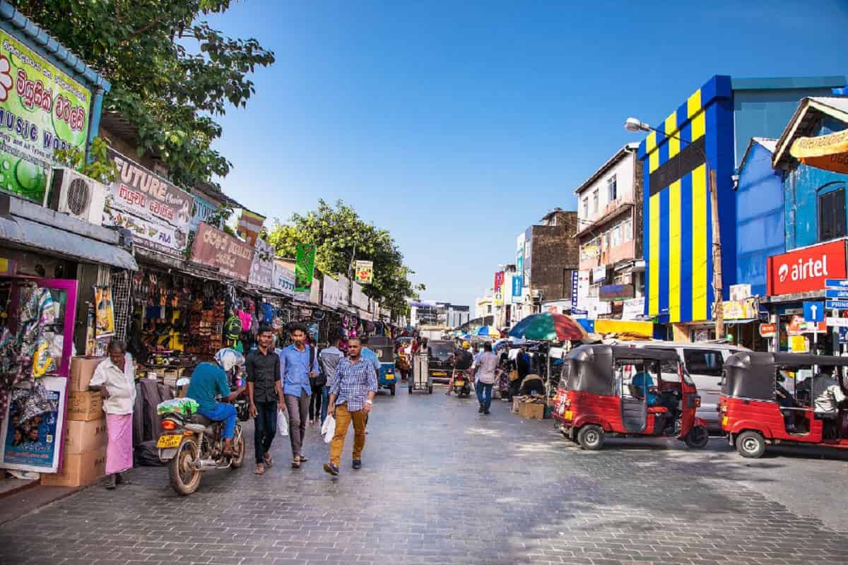
[[[154,152],[177,185],[226,176],[232,163],[212,149],[214,117],[244,107],[248,77],[274,53],[255,39],[232,39],[204,15],[231,0],[18,0],[23,14],[112,83],[103,110],[123,114],[138,131],[139,152]]]

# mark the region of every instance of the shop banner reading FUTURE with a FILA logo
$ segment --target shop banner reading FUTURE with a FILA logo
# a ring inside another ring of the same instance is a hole
[[[194,198],[158,174],[109,149],[118,176],[109,185],[103,225],[132,232],[140,246],[182,252],[188,244]]]

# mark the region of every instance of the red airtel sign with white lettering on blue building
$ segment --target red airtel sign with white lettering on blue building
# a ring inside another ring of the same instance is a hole
[[[769,296],[821,291],[825,279],[845,279],[845,240],[774,255],[767,269]]]

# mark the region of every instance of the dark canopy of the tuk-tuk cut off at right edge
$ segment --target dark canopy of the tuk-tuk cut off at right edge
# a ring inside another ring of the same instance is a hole
[[[739,352],[724,362],[722,395],[774,400],[778,368],[848,367],[848,357],[807,353]]]

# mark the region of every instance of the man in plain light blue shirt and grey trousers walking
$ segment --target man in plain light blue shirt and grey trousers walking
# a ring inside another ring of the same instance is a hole
[[[292,442],[292,468],[300,468],[306,463],[304,457],[304,437],[306,419],[309,417],[312,385],[310,377],[318,376],[315,371],[315,357],[312,347],[307,346],[306,328],[302,324],[293,324],[290,335],[292,345],[279,352],[280,374],[282,375],[282,393],[288,408],[288,437]]]

